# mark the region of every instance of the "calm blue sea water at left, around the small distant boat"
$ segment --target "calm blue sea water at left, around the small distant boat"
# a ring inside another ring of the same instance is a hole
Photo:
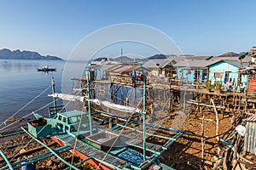
[[[47,74],[37,71],[44,65],[57,70]],[[67,67],[69,68],[68,71],[65,69]],[[52,76],[55,78],[56,93],[61,93],[61,89],[65,91],[64,93],[68,93],[72,88],[70,78],[80,77],[83,67],[84,63],[62,60],[0,59],[0,122],[2,123],[16,111],[19,111],[44,89],[49,88]],[[17,117],[26,116],[26,114],[49,104],[52,98],[47,95],[51,93],[52,90],[49,88],[32,104],[20,111]],[[58,100],[58,105],[62,105],[61,100]],[[53,104],[49,106],[53,106]],[[48,107],[38,112],[47,115]]]

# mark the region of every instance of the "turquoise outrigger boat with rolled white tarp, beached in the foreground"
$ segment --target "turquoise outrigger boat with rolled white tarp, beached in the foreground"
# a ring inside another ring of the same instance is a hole
[[[87,75],[87,91],[90,92],[90,72],[86,72]],[[34,113],[36,117],[35,121],[27,122],[28,128],[23,128],[22,133],[27,133],[32,139],[35,139],[38,143],[43,144],[45,148],[49,150],[48,153],[43,153],[38,156],[33,156],[30,159],[26,159],[26,164],[21,164],[22,161],[9,162],[3,152],[0,152],[3,159],[7,162],[2,169],[15,169],[24,165],[30,164],[44,159],[49,156],[56,156],[62,162],[64,162],[69,168],[78,170],[79,168],[65,161],[59,153],[70,150],[75,156],[79,156],[82,162],[88,162],[97,169],[172,169],[172,167],[166,166],[166,164],[160,161],[160,156],[165,152],[175,141],[181,137],[185,132],[181,129],[175,129],[172,127],[165,127],[158,124],[153,124],[145,121],[145,91],[146,81],[143,82],[143,110],[137,110],[134,108],[125,108],[127,111],[137,111],[142,119],[136,119],[115,115],[106,111],[94,110],[91,111],[90,105],[92,102],[99,102],[96,99],[90,99],[90,93],[87,96],[70,96],[66,98],[72,98],[72,100],[80,100],[88,102],[88,111],[65,111],[56,106],[55,97],[61,95],[55,94],[55,82],[52,80],[54,107],[49,112],[49,117],[44,117],[38,113]],[[64,95],[64,94],[62,94]],[[103,102],[102,102],[103,103]],[[114,107],[114,105],[112,105]],[[117,117],[122,119],[123,122],[111,122],[109,119],[104,119],[99,114],[105,116]],[[104,127],[97,127],[97,122],[108,122],[113,124],[111,129]],[[130,127],[131,123],[143,125],[143,130]],[[147,129],[148,127],[148,129]],[[138,133],[133,138],[123,135],[122,130],[129,129]],[[161,136],[155,133],[149,133],[151,130],[165,130],[169,131],[169,136]],[[20,131],[19,131],[20,132]],[[146,141],[147,136],[153,136],[159,139],[165,139],[166,144],[159,145]],[[192,134],[193,135],[193,134]],[[195,134],[194,134],[195,135]],[[138,137],[143,136],[143,139]],[[55,150],[50,149],[42,139],[50,137],[61,147]],[[1,150],[0,150],[1,151]]]

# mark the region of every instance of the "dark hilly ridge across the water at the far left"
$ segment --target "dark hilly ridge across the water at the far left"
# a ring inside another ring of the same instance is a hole
[[[61,59],[51,55],[41,55],[38,52],[20,51],[20,49],[11,51],[7,48],[0,49],[0,59]]]

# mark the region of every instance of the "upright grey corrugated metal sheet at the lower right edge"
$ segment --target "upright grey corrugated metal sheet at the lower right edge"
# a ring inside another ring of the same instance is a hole
[[[246,134],[244,139],[244,150],[256,155],[256,125],[247,122]]]

